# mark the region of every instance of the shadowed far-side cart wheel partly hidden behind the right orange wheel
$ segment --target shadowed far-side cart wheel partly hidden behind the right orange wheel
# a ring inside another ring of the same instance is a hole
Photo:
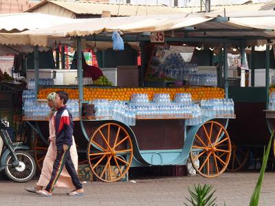
[[[232,144],[231,158],[226,170],[230,172],[241,170],[248,161],[249,152],[249,148],[240,148],[239,146],[236,146],[236,144]]]

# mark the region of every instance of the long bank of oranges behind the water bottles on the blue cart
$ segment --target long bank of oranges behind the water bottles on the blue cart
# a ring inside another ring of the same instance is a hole
[[[40,89],[38,98],[45,99],[47,94],[53,91],[66,91],[69,93],[70,99],[78,99],[78,89]],[[213,98],[224,98],[224,89],[216,87],[184,87],[184,88],[84,88],[84,100],[107,99],[107,100],[123,100],[131,99],[133,93],[147,93],[149,100],[153,100],[155,93],[169,93],[170,98],[174,100],[176,93],[191,93],[192,100],[208,100]]]

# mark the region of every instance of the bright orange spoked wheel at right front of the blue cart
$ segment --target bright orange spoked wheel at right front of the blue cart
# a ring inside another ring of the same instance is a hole
[[[190,160],[197,173],[204,177],[222,174],[231,156],[227,130],[218,122],[206,122],[195,135]]]

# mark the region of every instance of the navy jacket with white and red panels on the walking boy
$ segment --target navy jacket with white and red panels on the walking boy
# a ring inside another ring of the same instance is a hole
[[[66,106],[58,108],[54,114],[55,128],[56,128],[56,146],[72,146],[72,137],[74,133],[74,122],[72,114],[69,113]]]

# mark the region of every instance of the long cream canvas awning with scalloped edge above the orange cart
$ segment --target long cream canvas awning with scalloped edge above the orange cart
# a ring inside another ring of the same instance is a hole
[[[122,31],[124,33],[156,32],[175,30],[210,21],[212,17],[203,14],[173,14],[156,16],[129,16],[102,19],[85,19],[85,22],[64,23],[54,27],[29,30],[18,34],[0,34],[0,44],[50,46],[49,39],[72,36],[88,36],[102,32]]]

